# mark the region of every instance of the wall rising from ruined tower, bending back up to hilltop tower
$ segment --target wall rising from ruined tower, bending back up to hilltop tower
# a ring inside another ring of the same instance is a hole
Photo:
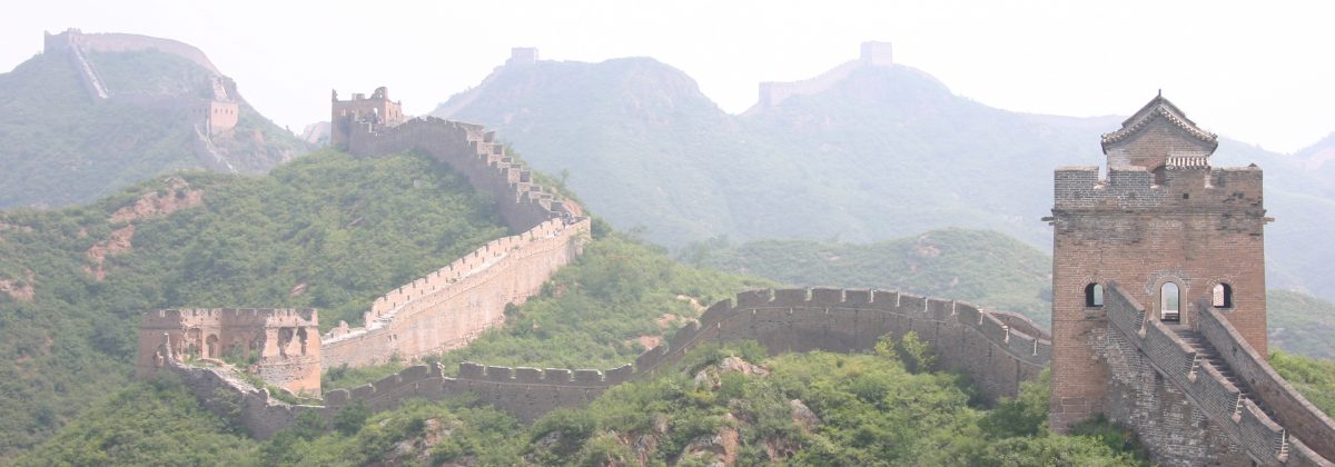
[[[376,96],[387,99],[384,88]],[[354,96],[356,99],[356,96]],[[334,100],[335,109],[342,101]],[[513,236],[375,300],[363,327],[339,323],[322,350],[324,367],[368,366],[392,356],[417,359],[466,346],[505,323],[507,304],[523,304],[583,251],[590,220],[578,204],[533,181],[523,163],[479,125],[426,117],[395,125],[348,121],[347,151],[374,157],[418,151],[449,164],[474,189],[490,193]]]

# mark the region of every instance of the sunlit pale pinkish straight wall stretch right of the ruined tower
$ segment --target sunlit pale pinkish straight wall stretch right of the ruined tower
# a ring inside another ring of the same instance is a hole
[[[417,359],[466,346],[505,323],[506,304],[525,303],[573,262],[587,232],[587,219],[549,220],[391,291],[371,306],[364,327],[339,323],[324,336],[323,366],[379,364],[395,354]]]

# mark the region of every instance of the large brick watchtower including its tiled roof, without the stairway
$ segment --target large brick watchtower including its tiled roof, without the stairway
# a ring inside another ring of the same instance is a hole
[[[1216,307],[1266,355],[1262,171],[1212,168],[1218,145],[1157,96],[1103,135],[1105,179],[1097,167],[1056,171],[1053,430],[1105,412],[1111,375],[1096,348],[1117,338],[1103,310],[1111,284],[1164,324],[1189,327]]]

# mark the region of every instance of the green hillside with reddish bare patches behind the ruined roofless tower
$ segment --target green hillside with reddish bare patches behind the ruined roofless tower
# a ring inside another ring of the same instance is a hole
[[[425,156],[322,151],[268,176],[183,172],[92,204],[0,212],[0,459],[132,374],[138,316],[316,307],[327,328],[506,234]]]

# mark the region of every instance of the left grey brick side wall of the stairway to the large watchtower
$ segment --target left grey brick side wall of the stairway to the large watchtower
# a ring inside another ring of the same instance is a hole
[[[1286,430],[1256,403],[1239,399],[1242,391],[1215,367],[1195,364],[1196,351],[1168,326],[1147,319],[1145,308],[1119,284],[1109,284],[1104,308],[1104,346],[1092,348],[1117,370],[1104,412],[1129,424],[1152,459],[1330,464],[1300,440],[1286,438]]]

